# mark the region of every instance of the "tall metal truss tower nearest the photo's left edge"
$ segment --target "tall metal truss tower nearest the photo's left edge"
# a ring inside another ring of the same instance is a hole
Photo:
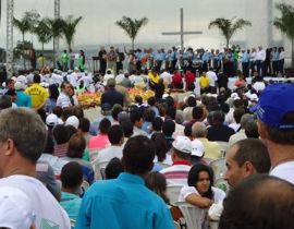
[[[13,0],[7,0],[7,72],[13,74]]]

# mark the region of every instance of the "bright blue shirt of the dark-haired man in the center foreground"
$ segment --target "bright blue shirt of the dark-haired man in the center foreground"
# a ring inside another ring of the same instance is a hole
[[[83,197],[75,229],[173,229],[163,200],[144,180],[123,172],[118,179],[98,181]]]

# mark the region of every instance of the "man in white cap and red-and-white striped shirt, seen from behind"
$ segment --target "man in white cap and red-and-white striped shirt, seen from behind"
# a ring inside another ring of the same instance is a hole
[[[160,172],[166,176],[168,185],[187,184],[187,176],[192,164],[189,162],[192,144],[188,137],[177,136],[172,143],[173,165],[162,169]]]

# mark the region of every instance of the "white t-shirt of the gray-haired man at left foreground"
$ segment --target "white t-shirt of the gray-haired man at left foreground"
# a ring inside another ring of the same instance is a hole
[[[50,228],[71,228],[68,214],[39,180],[28,176],[13,174],[0,179],[0,186],[20,189],[32,200],[36,214],[36,229],[44,229],[48,226]]]

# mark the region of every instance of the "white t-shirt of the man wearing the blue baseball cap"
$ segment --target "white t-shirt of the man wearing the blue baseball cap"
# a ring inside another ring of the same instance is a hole
[[[269,174],[294,184],[294,160],[274,167]]]

